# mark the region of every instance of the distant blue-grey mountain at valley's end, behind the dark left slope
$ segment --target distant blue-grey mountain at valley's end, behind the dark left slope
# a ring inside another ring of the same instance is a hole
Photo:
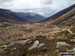
[[[14,12],[17,16],[22,19],[26,19],[28,22],[39,22],[44,19],[44,16],[35,13],[24,13],[24,12]]]

